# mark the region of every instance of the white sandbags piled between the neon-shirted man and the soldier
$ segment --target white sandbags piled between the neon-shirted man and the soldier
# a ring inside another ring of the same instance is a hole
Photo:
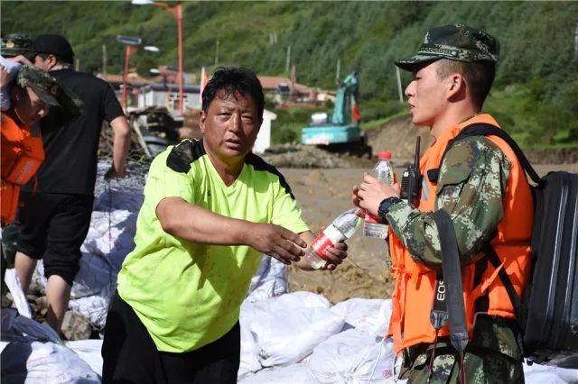
[[[276,262],[276,261],[275,261]],[[242,383],[393,382],[390,300],[294,292],[241,307]]]

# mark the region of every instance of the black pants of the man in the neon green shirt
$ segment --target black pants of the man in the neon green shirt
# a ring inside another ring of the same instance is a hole
[[[237,383],[237,323],[219,340],[191,352],[159,352],[131,306],[118,296],[107,315],[102,343],[103,383]]]

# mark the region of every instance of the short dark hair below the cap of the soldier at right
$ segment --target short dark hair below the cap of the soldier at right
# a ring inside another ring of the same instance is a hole
[[[489,88],[496,76],[496,64],[490,61],[464,62],[451,59],[440,59],[437,77],[447,78],[452,73],[459,73],[466,80],[471,99],[480,109],[489,94]]]

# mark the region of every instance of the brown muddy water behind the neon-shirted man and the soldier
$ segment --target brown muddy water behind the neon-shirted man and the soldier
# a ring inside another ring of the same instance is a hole
[[[320,233],[331,221],[352,207],[351,187],[359,184],[364,169],[280,169],[292,187],[303,210],[303,217],[313,233]],[[536,171],[578,172],[578,164],[539,165]],[[401,169],[396,169],[401,174]],[[289,288],[322,293],[332,303],[350,297],[387,298],[393,290],[393,279],[386,264],[385,242],[368,239],[358,231],[349,241],[349,261],[334,271],[305,272],[289,269]]]

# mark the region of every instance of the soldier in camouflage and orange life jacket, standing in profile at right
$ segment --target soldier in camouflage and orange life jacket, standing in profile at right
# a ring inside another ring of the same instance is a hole
[[[498,125],[489,114],[481,113],[498,59],[499,42],[488,33],[463,25],[446,25],[429,30],[415,56],[396,61],[397,67],[415,75],[406,88],[413,123],[429,127],[433,136],[433,143],[420,162],[424,174],[420,201],[416,207],[411,206],[399,199],[399,185],[391,187],[366,174],[359,187],[353,187],[353,203],[372,215],[382,217],[390,225],[389,242],[394,242],[390,251],[397,247],[408,252],[409,260],[419,265],[421,270],[437,271],[442,267],[440,233],[433,222],[433,211],[443,208],[450,213],[463,271],[480,261],[477,256],[482,245],[496,235],[502,219],[508,215],[512,217],[505,199],[511,198],[516,202],[518,192],[514,191],[513,197],[506,197],[508,182],[519,182],[520,189],[529,193],[524,172],[521,176],[514,175],[517,181],[509,180],[513,175],[510,171],[517,164],[487,137],[470,137],[452,145],[443,158],[437,184],[432,184],[426,175],[426,171],[431,169],[430,164],[439,165],[441,153],[463,127],[480,122]],[[433,153],[438,158],[429,162]],[[527,211],[527,216],[520,219],[527,219],[531,225],[533,207],[524,206],[522,209]],[[526,240],[527,253],[520,257],[529,259],[529,237],[523,239]],[[482,260],[488,262],[486,258]],[[448,336],[437,338],[436,335],[434,343],[405,343],[405,340],[416,339],[408,336],[409,324],[429,322],[429,319],[415,319],[415,313],[419,312],[417,306],[426,306],[429,315],[432,303],[423,298],[424,301],[411,306],[410,311],[406,287],[429,281],[424,280],[422,272],[420,277],[417,273],[416,276],[404,277],[403,272],[396,270],[395,261],[393,273],[396,292],[392,323],[396,318],[396,305],[405,306],[399,316],[401,320],[398,320],[401,332],[396,333],[391,323],[389,332],[393,334],[395,343],[403,345],[398,348],[398,352],[403,350],[400,379],[408,379],[408,383],[458,382],[465,371],[468,383],[524,382],[521,337],[516,320],[511,316],[479,315],[477,313],[483,311],[480,311],[478,301],[473,332],[463,361]],[[520,275],[524,274],[528,275],[527,270],[520,271]],[[433,276],[435,279],[434,272]],[[421,282],[416,282],[419,279]],[[399,284],[404,288],[398,289]],[[468,294],[468,289],[472,288],[464,284],[464,295]]]

